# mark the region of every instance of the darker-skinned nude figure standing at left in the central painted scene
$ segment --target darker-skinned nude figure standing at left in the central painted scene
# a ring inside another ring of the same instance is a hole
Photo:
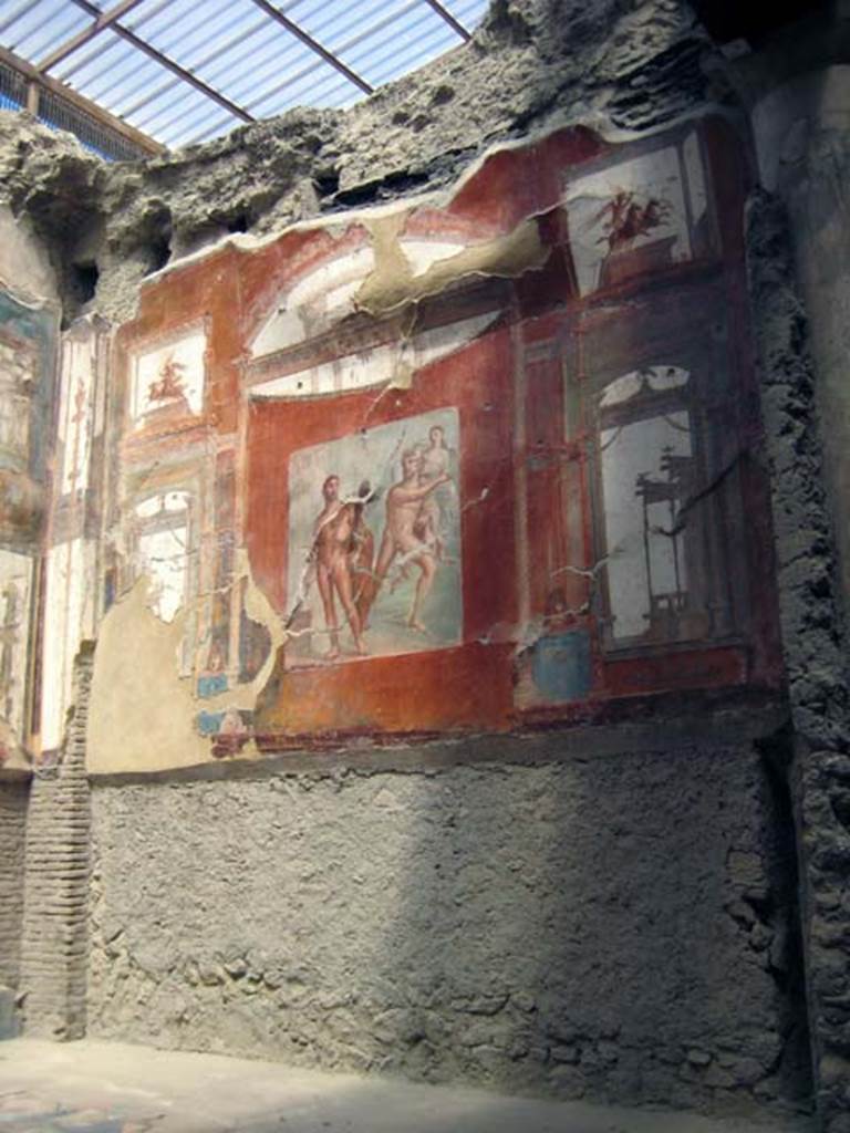
[[[339,476],[331,475],[322,485],[324,508],[314,525],[312,556],[322,598],[325,625],[331,644],[329,661],[340,655],[339,622],[334,591],[339,595],[351,629],[355,649],[366,653],[363,641],[365,606],[372,588],[372,531],[363,520],[363,509],[371,492],[362,484],[355,500],[340,500]],[[368,587],[368,590],[367,590]]]

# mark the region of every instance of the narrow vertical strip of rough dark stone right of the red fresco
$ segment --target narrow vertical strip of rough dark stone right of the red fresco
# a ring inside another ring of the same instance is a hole
[[[800,830],[819,1111],[850,1131],[850,712],[834,543],[822,476],[816,374],[794,287],[788,215],[766,194],[749,218],[750,282],[774,495],[794,736],[785,747]]]

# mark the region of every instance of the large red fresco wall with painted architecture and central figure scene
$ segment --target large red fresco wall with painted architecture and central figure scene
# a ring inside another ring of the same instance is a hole
[[[775,687],[746,190],[722,119],[573,128],[76,324],[45,756],[94,637],[93,770]]]

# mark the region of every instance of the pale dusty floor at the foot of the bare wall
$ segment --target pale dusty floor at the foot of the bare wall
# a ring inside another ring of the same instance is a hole
[[[0,1043],[0,1133],[802,1133],[118,1042]]]

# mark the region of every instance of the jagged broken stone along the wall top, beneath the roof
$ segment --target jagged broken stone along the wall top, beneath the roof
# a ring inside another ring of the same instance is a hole
[[[0,204],[50,248],[68,317],[121,321],[146,274],[227,232],[443,186],[493,143],[567,120],[640,130],[722,100],[711,54],[680,0],[495,0],[469,44],[349,111],[295,110],[144,163],[2,112]]]

